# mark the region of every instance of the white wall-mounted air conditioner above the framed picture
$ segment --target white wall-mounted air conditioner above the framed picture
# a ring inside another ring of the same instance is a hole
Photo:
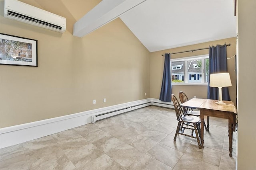
[[[61,33],[66,30],[66,18],[18,0],[4,0],[4,17]]]

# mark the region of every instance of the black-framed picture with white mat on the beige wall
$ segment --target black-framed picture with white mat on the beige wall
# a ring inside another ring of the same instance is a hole
[[[0,64],[37,67],[37,40],[0,33]]]

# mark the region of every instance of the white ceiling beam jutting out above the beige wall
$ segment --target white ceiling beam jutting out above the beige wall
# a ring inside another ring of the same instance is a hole
[[[73,35],[83,37],[144,1],[146,0],[102,0],[74,24]]]

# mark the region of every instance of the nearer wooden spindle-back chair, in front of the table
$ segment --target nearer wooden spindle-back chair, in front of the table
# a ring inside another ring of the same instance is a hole
[[[201,133],[200,132],[200,118],[197,116],[192,116],[192,115],[186,114],[184,112],[184,110],[182,109],[182,107],[180,106],[180,103],[177,100],[177,98],[174,96],[174,94],[172,94],[172,102],[174,104],[176,117],[178,120],[178,126],[177,126],[176,133],[174,136],[174,141],[176,141],[178,134],[196,138],[197,142],[198,142],[198,148],[202,149],[199,135],[198,135],[198,133],[199,134]],[[184,133],[185,129],[191,130],[191,135],[185,134]],[[195,132],[196,136],[193,135],[194,132]]]

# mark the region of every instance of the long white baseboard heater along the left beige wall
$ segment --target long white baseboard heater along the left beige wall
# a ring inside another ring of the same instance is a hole
[[[108,111],[106,113],[100,113],[100,114],[97,114],[97,115],[93,115],[92,116],[92,123],[95,123],[98,120],[106,119],[108,117],[112,117],[112,116],[115,116],[115,115],[119,115],[119,114],[122,114],[122,113],[126,113],[128,111],[132,111],[132,110],[135,110],[135,109],[139,109],[139,108],[146,107],[146,106],[151,106],[151,105],[152,105],[152,102],[146,102],[144,104],[137,104],[137,105],[134,105],[134,106],[125,106],[125,107],[121,107],[121,108],[116,108],[115,110]]]

